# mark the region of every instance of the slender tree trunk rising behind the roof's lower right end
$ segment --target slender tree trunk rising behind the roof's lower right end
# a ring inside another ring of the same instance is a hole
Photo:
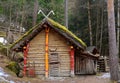
[[[91,28],[91,16],[90,16],[90,2],[88,1],[88,22],[89,22],[89,34],[90,34],[90,46],[93,45],[92,28]]]

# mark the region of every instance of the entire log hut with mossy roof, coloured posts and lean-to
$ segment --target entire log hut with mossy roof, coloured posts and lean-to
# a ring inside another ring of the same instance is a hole
[[[11,49],[24,54],[24,75],[74,76],[96,73],[98,56],[66,27],[44,19],[18,39]]]

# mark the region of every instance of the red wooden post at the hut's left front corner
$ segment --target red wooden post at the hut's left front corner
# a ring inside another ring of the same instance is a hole
[[[23,47],[23,53],[24,53],[24,68],[23,68],[23,74],[26,76],[26,71],[27,71],[27,55],[28,55],[28,48],[29,44],[27,46]]]

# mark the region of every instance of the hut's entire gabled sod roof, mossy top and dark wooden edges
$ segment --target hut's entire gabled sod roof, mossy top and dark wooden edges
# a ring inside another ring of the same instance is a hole
[[[16,40],[11,45],[11,49],[21,48],[26,44],[26,42],[31,41],[32,38],[34,38],[38,33],[40,33],[45,28],[43,27],[44,24],[47,24],[50,28],[56,30],[58,33],[60,33],[70,42],[72,42],[74,45],[83,49],[86,48],[86,44],[80,38],[74,35],[70,30],[68,30],[65,26],[62,26],[58,22],[55,22],[54,20],[47,18],[42,20],[39,24],[31,28],[28,32],[26,32],[23,36]]]

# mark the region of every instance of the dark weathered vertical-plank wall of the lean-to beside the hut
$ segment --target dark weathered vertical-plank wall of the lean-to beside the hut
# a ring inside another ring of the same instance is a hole
[[[75,74],[95,74],[97,72],[96,65],[91,58],[75,56]]]

